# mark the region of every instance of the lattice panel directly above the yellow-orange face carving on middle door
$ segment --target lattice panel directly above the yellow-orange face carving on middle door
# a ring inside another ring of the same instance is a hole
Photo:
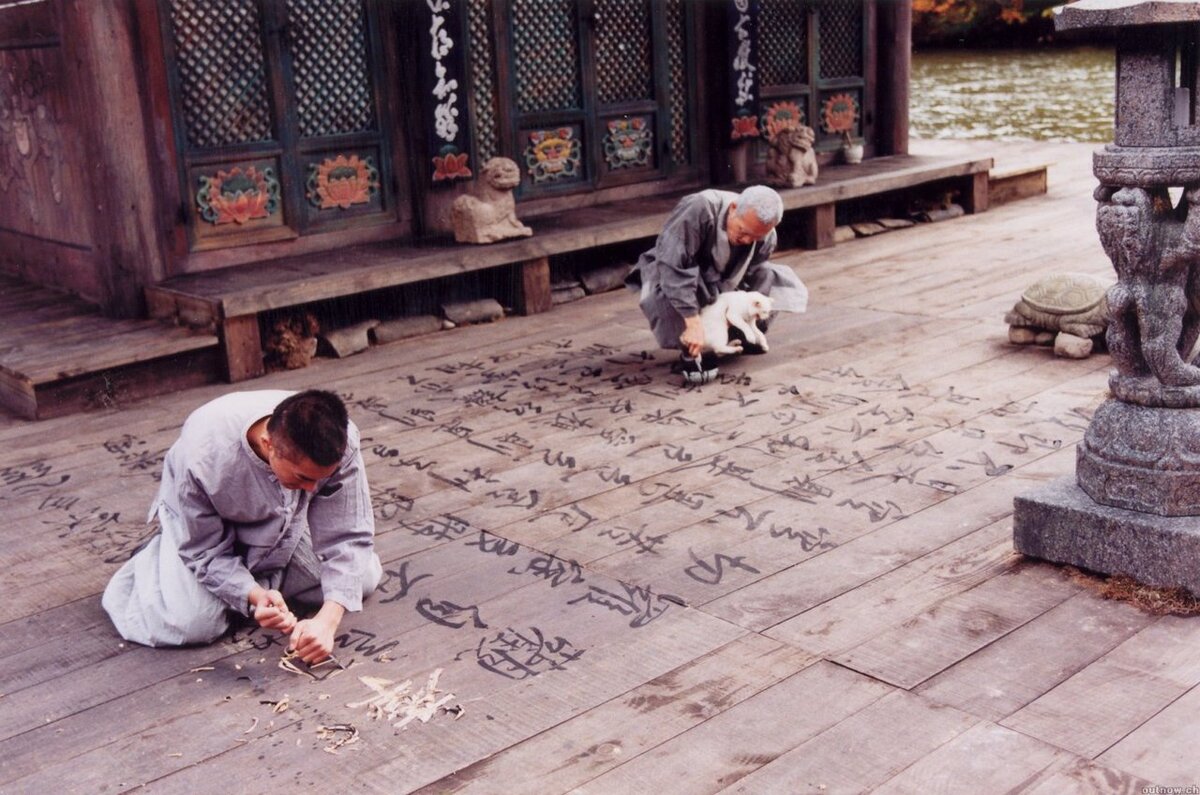
[[[517,110],[582,107],[575,0],[514,0]]]

